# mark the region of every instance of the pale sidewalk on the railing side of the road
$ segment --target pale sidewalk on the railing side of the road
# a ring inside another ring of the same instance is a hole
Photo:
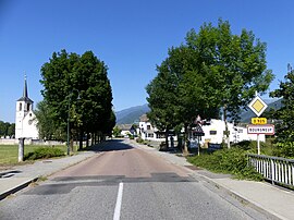
[[[184,157],[161,152],[145,145],[132,142],[151,154],[157,154],[171,163],[192,167]],[[206,170],[194,170],[193,175],[210,184],[210,187],[222,190],[244,204],[266,213],[270,219],[294,219],[294,192],[273,186],[266,182],[233,180],[230,175],[216,174]]]

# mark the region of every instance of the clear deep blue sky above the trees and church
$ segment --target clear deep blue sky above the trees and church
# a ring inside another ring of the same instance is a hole
[[[14,122],[24,74],[28,95],[42,100],[40,68],[53,51],[94,53],[109,68],[115,111],[146,103],[146,85],[168,48],[204,22],[228,20],[234,34],[253,30],[267,42],[270,90],[294,64],[291,0],[0,0],[0,120]]]

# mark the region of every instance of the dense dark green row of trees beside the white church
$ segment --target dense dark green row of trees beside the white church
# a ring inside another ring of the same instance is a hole
[[[103,138],[115,125],[108,68],[91,51],[79,56],[54,52],[41,66],[44,100],[36,117],[40,138]],[[70,127],[70,131],[66,129]],[[68,131],[68,133],[66,133]]]

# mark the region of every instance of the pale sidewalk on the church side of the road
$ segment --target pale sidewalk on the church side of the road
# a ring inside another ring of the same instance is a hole
[[[26,187],[41,176],[48,176],[94,155],[94,151],[82,151],[71,157],[39,160],[33,164],[16,166],[13,169],[0,171],[0,200]]]

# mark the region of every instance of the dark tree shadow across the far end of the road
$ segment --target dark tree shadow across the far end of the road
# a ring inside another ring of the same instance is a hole
[[[133,149],[131,145],[127,145],[123,143],[123,139],[108,139],[106,142],[102,142],[100,144],[90,146],[88,148],[85,148],[83,150],[90,150],[90,151],[118,151],[118,150],[128,150]]]

